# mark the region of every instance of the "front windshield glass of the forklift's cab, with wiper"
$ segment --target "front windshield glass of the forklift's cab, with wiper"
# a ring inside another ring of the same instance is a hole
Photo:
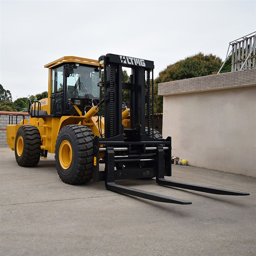
[[[67,97],[85,97],[99,98],[100,88],[99,71],[95,71],[95,67],[86,67],[79,65],[69,66],[70,75],[67,78]]]

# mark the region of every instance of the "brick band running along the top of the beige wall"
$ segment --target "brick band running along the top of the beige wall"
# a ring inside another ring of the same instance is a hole
[[[201,76],[178,81],[160,83],[159,95],[206,92],[253,86],[256,83],[256,69]]]

